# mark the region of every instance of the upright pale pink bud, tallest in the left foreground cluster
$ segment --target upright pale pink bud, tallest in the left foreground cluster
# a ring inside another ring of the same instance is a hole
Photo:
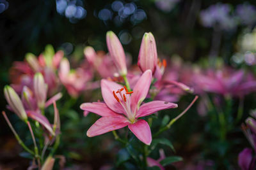
[[[37,105],[39,108],[44,108],[47,96],[47,84],[45,84],[44,77],[41,73],[36,73],[33,81]]]

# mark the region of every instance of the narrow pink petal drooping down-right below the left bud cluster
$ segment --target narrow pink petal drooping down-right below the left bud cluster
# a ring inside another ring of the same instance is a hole
[[[52,126],[47,120],[47,118],[44,115],[41,115],[40,113],[36,113],[35,111],[27,111],[28,117],[32,118],[33,120],[36,120],[39,122],[42,126],[44,126],[52,135],[54,135],[54,132],[52,130]]]

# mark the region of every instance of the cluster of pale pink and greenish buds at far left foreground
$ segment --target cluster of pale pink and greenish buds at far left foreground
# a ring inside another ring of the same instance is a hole
[[[42,111],[60,99],[62,95],[61,93],[58,93],[55,96],[52,96],[49,100],[46,100],[47,84],[45,84],[41,73],[36,73],[34,76],[33,90],[24,86],[21,99],[17,92],[8,85],[4,87],[4,96],[8,103],[7,108],[16,113],[21,120],[28,122],[28,117],[32,118],[36,122],[42,124],[50,134],[55,135],[52,125]]]

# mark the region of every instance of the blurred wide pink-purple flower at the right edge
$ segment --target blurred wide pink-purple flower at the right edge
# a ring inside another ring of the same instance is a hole
[[[244,96],[256,90],[256,80],[243,70],[236,71],[225,67],[219,70],[209,69],[205,73],[193,76],[197,89],[223,96]]]

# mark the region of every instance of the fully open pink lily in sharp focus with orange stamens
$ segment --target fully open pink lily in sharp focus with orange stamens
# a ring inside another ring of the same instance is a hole
[[[80,108],[102,116],[87,131],[93,137],[114,131],[128,125],[133,134],[146,145],[152,141],[151,131],[145,120],[139,119],[168,108],[177,108],[177,104],[165,101],[152,101],[142,104],[148,94],[152,81],[152,71],[145,71],[132,92],[126,87],[108,80],[101,80],[101,92],[105,103],[83,103]],[[125,92],[124,92],[125,91]]]

